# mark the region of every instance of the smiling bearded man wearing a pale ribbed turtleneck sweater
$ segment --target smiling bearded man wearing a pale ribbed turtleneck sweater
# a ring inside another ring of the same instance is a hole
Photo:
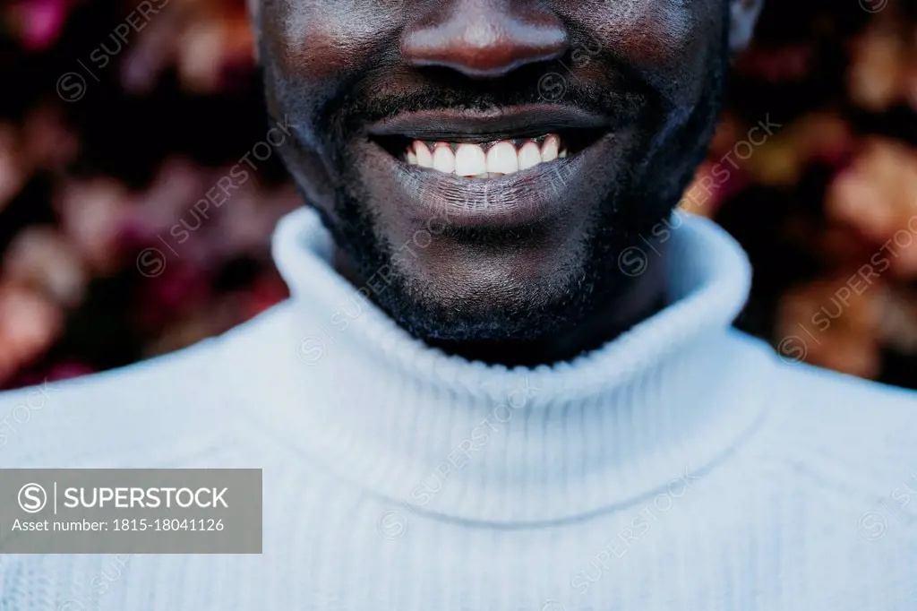
[[[914,395],[730,330],[744,254],[672,215],[759,4],[255,0],[293,297],[50,384],[0,464],[262,468],[263,554],[79,604],[917,609]],[[6,556],[0,607],[106,562]]]

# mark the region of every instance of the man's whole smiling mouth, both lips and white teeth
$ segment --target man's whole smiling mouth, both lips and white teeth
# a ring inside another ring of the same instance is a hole
[[[555,105],[406,112],[358,147],[381,209],[416,225],[535,228],[601,204],[628,130],[624,117]]]

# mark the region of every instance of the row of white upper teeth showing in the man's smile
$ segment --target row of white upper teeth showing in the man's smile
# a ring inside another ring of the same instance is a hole
[[[455,152],[452,147],[455,146]],[[431,152],[432,147],[432,152]],[[565,159],[568,151],[560,150],[560,137],[550,134],[539,147],[535,140],[527,140],[516,150],[513,142],[501,140],[486,152],[483,147],[469,142],[450,145],[436,142],[427,145],[420,140],[408,146],[405,158],[409,165],[432,168],[437,172],[463,177],[497,178],[533,168],[539,163]]]

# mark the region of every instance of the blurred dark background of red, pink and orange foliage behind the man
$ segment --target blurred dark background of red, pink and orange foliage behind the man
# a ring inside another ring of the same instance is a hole
[[[178,350],[286,296],[271,229],[301,203],[244,5],[0,6],[0,388]],[[767,0],[734,72],[681,206],[752,258],[738,327],[917,388],[917,2]]]

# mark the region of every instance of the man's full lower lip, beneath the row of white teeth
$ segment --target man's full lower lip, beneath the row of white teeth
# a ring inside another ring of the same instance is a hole
[[[459,228],[513,228],[544,223],[567,214],[569,184],[589,180],[608,160],[613,134],[605,134],[575,155],[539,163],[500,178],[463,178],[408,165],[370,141],[371,165],[391,183],[379,184],[390,193],[401,214],[418,223],[436,220]]]

